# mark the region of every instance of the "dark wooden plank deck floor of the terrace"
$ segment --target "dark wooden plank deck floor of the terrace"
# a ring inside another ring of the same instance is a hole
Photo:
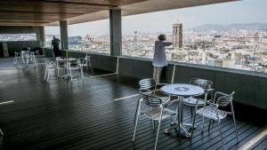
[[[114,101],[136,94],[137,80],[120,75],[86,76],[83,82],[53,77],[45,83],[44,64],[14,66],[12,59],[0,59],[0,102],[14,100],[0,105],[4,131],[0,149],[152,149],[156,133],[145,118],[140,120],[134,144],[131,141],[137,98]],[[184,113],[184,121],[190,122],[190,110],[185,108]],[[239,143],[231,117],[222,122],[227,149],[243,146],[263,128],[263,124],[241,119],[237,123]],[[191,144],[175,131],[164,134],[169,126],[169,120],[162,123],[158,149],[222,149],[216,125],[203,134],[197,128]]]

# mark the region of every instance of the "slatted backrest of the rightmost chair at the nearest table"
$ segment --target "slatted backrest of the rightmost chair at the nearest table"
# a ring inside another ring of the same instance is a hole
[[[219,107],[227,107],[232,99],[233,99],[233,94],[235,93],[235,91],[232,91],[231,94],[225,94],[223,92],[215,92],[215,104],[217,104]],[[218,98],[217,95],[220,95]]]

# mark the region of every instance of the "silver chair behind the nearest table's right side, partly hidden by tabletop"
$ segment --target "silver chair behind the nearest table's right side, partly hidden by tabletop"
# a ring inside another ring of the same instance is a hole
[[[204,99],[197,99],[197,98],[193,98],[193,97],[190,97],[188,99],[183,99],[183,104],[190,107],[191,116],[192,116],[192,114],[193,114],[193,107],[196,106],[197,100],[198,100],[198,106],[199,107],[201,107],[201,106],[203,107],[204,106],[205,101],[207,100],[208,94],[213,91],[213,89],[211,88],[212,85],[213,85],[213,82],[211,82],[209,80],[206,80],[206,79],[192,78],[190,80],[190,84],[199,86],[199,87],[203,88],[204,91],[205,91],[205,97],[204,97]],[[212,93],[211,93],[211,95],[212,95]]]

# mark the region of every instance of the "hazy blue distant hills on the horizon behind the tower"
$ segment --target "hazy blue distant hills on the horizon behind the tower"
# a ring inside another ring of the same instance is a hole
[[[267,23],[247,23],[247,24],[230,24],[230,25],[216,25],[216,24],[205,24],[195,28],[189,28],[187,30],[193,30],[196,32],[206,32],[206,31],[224,31],[229,29],[264,29],[267,30]]]

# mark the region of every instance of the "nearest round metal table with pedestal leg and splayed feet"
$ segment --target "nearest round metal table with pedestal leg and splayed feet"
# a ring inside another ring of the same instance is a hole
[[[204,94],[204,90],[201,87],[198,87],[196,85],[191,85],[191,84],[182,84],[182,83],[174,83],[174,84],[168,84],[160,88],[160,91],[172,95],[172,96],[177,96],[178,97],[178,105],[177,105],[177,112],[178,112],[178,122],[174,122],[176,125],[166,129],[166,132],[169,132],[169,130],[178,127],[179,133],[180,133],[180,128],[184,130],[185,132],[185,137],[189,138],[190,133],[189,131],[185,128],[185,126],[191,126],[190,123],[183,123],[182,122],[182,106],[183,106],[183,97],[194,97],[198,95]]]

